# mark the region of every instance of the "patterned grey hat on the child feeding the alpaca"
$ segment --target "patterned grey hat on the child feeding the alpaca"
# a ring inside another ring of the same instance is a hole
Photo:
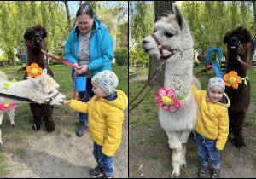
[[[113,93],[119,84],[119,78],[109,70],[96,73],[91,80],[107,93]]]

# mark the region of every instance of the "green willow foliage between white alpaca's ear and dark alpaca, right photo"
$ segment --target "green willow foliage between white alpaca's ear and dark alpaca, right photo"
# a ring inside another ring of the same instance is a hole
[[[224,35],[237,26],[253,26],[252,8],[243,1],[183,2],[183,14],[194,38],[194,49],[221,48],[226,54]]]

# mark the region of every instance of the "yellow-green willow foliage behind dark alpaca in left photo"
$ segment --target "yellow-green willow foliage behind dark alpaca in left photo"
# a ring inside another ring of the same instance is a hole
[[[58,2],[1,1],[0,7],[0,48],[5,55],[13,54],[16,45],[25,46],[23,35],[28,27],[41,24],[46,28],[46,50],[52,53],[55,41],[63,38],[63,32],[67,32],[67,16]]]

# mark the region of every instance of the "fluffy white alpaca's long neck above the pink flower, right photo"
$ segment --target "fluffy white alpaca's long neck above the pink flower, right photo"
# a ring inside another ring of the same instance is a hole
[[[165,89],[174,90],[174,96],[186,94],[193,77],[193,49],[178,51],[166,60]]]

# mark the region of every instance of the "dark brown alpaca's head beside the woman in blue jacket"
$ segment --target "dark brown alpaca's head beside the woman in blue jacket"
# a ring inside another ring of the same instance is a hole
[[[41,50],[46,48],[44,38],[47,37],[47,31],[44,26],[37,25],[28,27],[24,33],[24,40],[28,49]]]

